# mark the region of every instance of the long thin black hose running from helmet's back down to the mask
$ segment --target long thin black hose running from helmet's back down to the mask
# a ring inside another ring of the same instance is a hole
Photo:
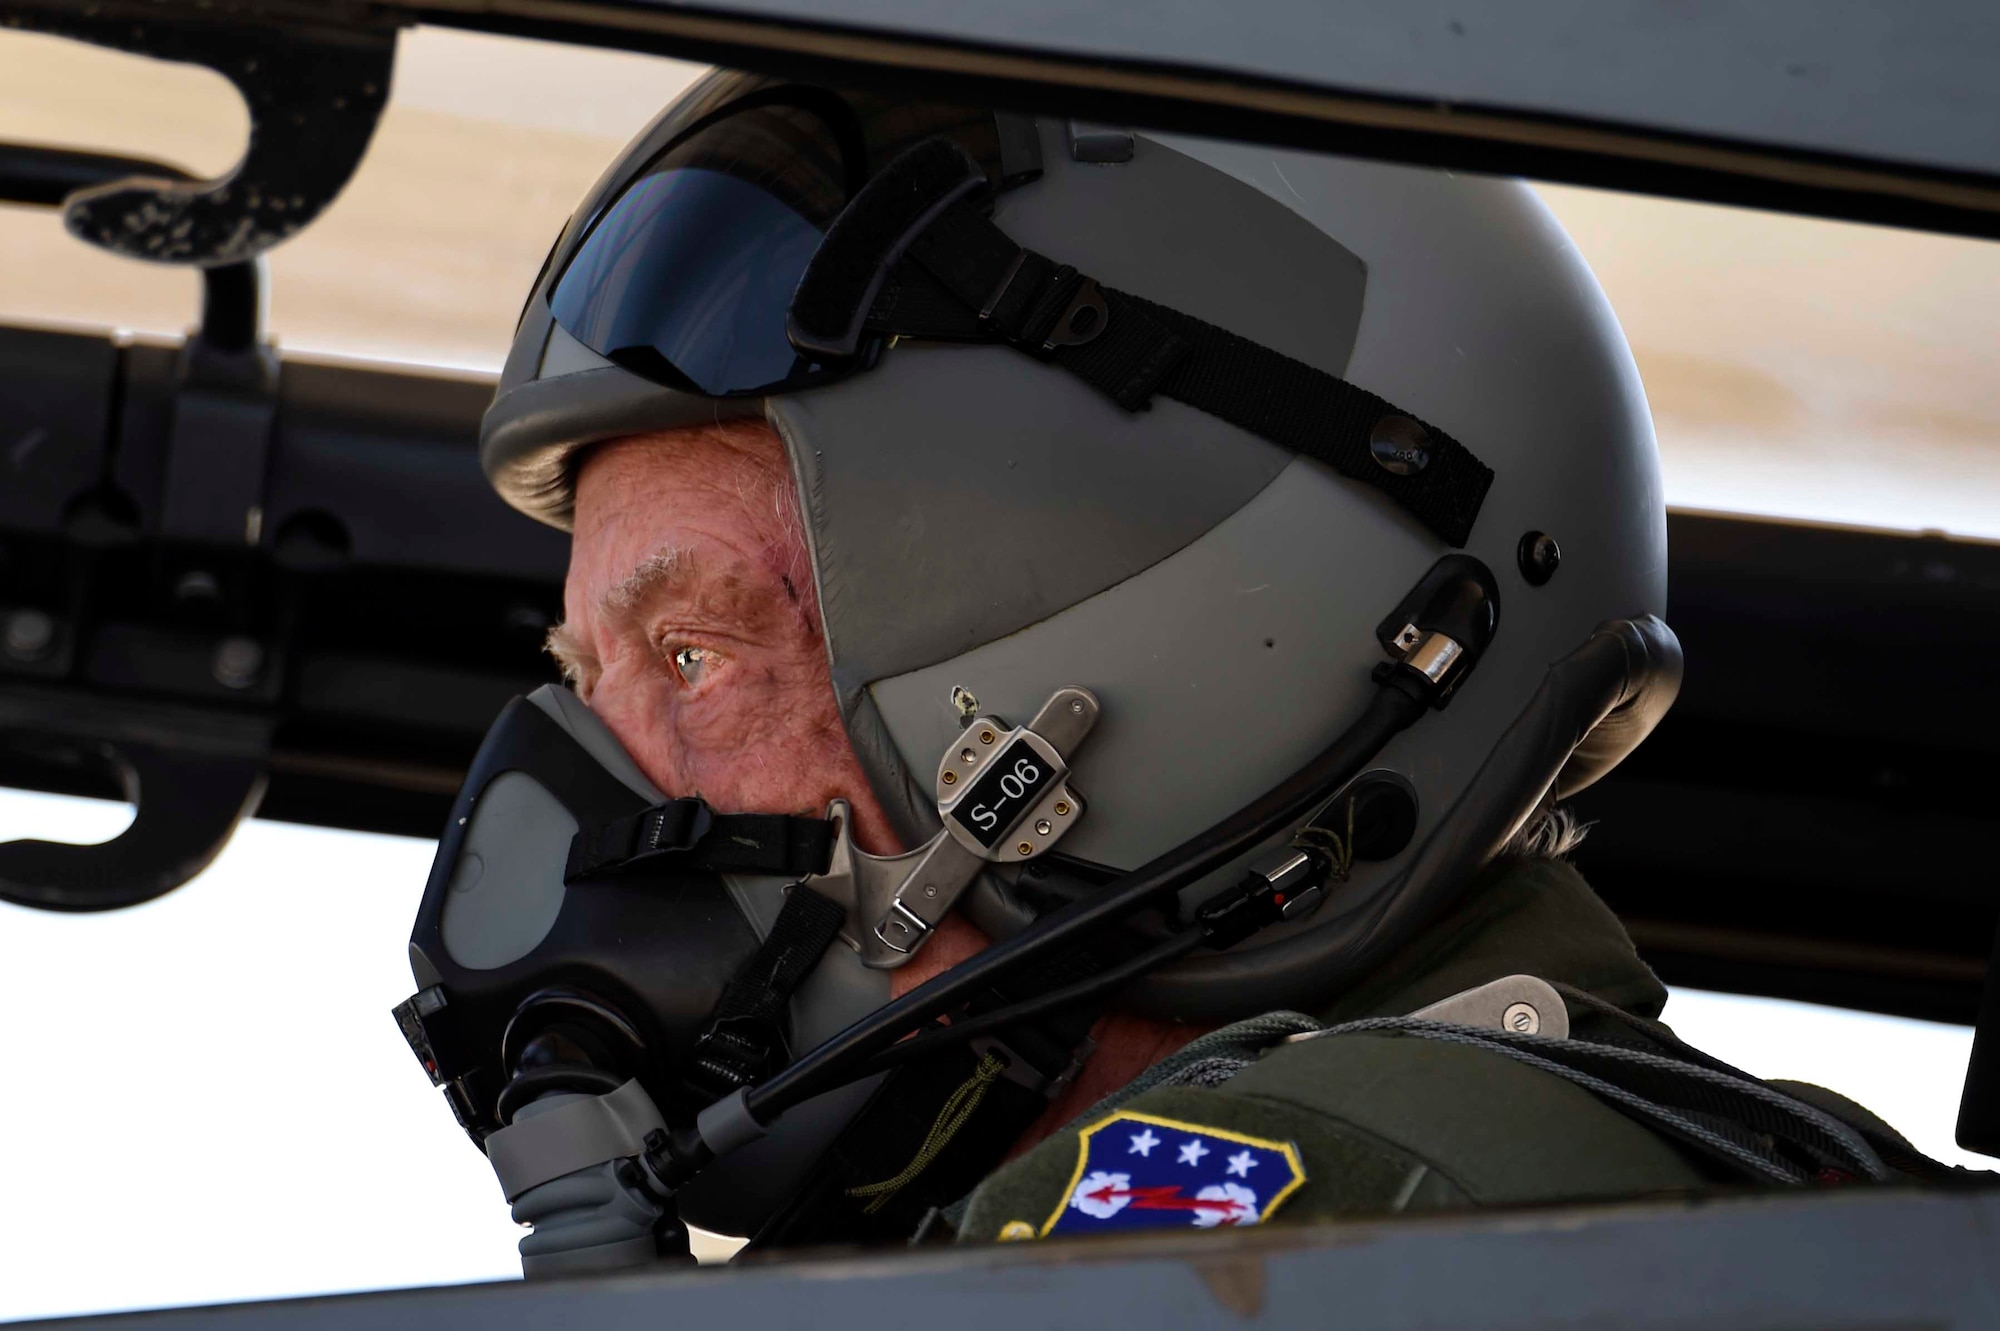
[[[1370,697],[1368,709],[1354,725],[1254,803],[1112,881],[1104,891],[1056,909],[1022,933],[994,943],[970,961],[954,965],[936,979],[856,1021],[770,1081],[752,1087],[744,1099],[744,1109],[758,1123],[770,1123],[786,1109],[822,1091],[868,1075],[874,1071],[868,1059],[932,1017],[958,1007],[1022,965],[1046,957],[1048,949],[1072,943],[1150,905],[1158,897],[1180,891],[1306,817],[1316,803],[1328,799],[1340,785],[1358,775],[1390,739],[1430,707],[1430,697],[1424,691],[1408,687],[1406,673],[1394,671],[1386,675]],[[1106,973],[1072,989],[1088,987],[1088,993],[1094,993],[1100,983],[1114,987],[1116,983],[1130,981],[1140,973],[1140,969],[1134,969],[1138,961],[1146,961],[1146,969],[1150,969],[1150,965],[1164,963],[1172,955],[1192,949],[1200,941],[1200,935],[1198,931],[1190,933],[1194,937],[1176,935],[1168,939],[1174,945],[1170,953],[1162,945],[1150,953],[1142,953],[1132,963],[1116,967],[1116,979],[1112,979],[1114,973]],[[1128,969],[1132,973],[1126,973]],[[1042,995],[1032,1005],[1040,1011],[1044,1009],[1044,999],[1050,999],[1046,1005],[1052,1007],[1064,1001],[1078,1001],[1080,997],[1088,997],[1088,993],[1062,991]],[[1022,1007],[1028,1005],[988,1015],[1014,1021],[1028,1015]]]

